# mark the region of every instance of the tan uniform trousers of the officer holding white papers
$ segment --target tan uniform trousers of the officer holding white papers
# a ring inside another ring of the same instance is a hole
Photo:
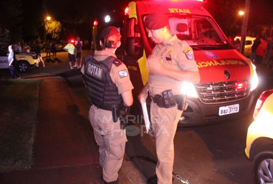
[[[156,103],[151,103],[151,121],[158,157],[156,164],[158,184],[172,183],[174,163],[173,139],[182,112],[176,106],[166,109],[158,107]]]

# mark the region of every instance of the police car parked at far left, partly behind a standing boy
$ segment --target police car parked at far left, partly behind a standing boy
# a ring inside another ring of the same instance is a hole
[[[36,66],[40,62],[37,54],[35,53],[18,53],[14,51],[16,62],[16,69],[22,73],[28,72],[30,68]],[[8,54],[7,48],[0,48],[0,69],[8,67]]]

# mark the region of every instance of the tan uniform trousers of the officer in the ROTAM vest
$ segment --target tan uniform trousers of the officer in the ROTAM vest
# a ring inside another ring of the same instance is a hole
[[[118,170],[123,161],[125,130],[120,129],[120,121],[112,121],[112,112],[97,109],[92,105],[89,110],[89,121],[94,129],[94,136],[99,145],[99,165],[102,167],[103,180],[112,182],[118,178]]]

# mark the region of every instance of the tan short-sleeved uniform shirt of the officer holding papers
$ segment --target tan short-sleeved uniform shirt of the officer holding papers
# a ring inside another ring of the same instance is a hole
[[[176,35],[171,37],[165,45],[157,44],[152,55],[161,59],[162,63],[177,71],[198,71],[192,48],[186,41],[179,40]],[[173,94],[181,94],[183,81],[171,77],[149,73],[148,86],[151,96],[161,94],[162,91],[172,89]]]

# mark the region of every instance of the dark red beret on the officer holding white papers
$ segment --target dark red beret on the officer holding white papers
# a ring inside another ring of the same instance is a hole
[[[144,24],[148,29],[157,30],[169,24],[169,17],[161,12],[151,13],[146,17]]]

